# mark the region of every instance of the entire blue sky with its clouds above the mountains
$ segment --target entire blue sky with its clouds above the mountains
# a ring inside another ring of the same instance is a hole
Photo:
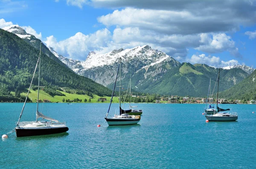
[[[256,68],[256,0],[0,0],[17,24],[63,56],[149,45],[179,62]]]

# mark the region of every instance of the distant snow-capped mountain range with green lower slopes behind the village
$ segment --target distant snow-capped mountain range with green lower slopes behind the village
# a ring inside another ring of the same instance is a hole
[[[23,38],[30,45],[39,48],[40,40],[27,34],[18,25],[4,28]],[[206,96],[209,79],[215,86],[218,70],[205,64],[180,63],[162,51],[148,45],[131,49],[118,49],[106,54],[90,52],[85,61],[68,59],[44,46],[47,56],[59,64],[72,69],[108,88],[113,87],[119,58],[122,58],[122,85],[128,86],[131,77],[134,90],[144,93],[158,93],[178,96]],[[61,62],[61,63],[60,63]],[[220,91],[239,84],[254,71],[246,65],[235,65],[221,69]]]

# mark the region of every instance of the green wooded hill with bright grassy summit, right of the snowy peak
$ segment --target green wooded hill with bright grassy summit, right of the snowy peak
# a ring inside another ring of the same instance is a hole
[[[205,97],[208,93],[209,80],[211,88],[215,86],[218,69],[204,64],[192,65],[182,63],[180,67],[166,72],[155,82],[144,84],[143,92],[166,95]],[[219,91],[224,91],[241,82],[248,74],[241,69],[223,70],[220,72]],[[215,90],[217,87],[215,87]]]

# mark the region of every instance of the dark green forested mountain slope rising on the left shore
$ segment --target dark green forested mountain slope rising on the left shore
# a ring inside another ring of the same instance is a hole
[[[32,73],[39,56],[39,50],[29,45],[13,33],[0,29],[0,95],[9,97],[15,91],[29,87]],[[57,58],[56,58],[57,59]],[[38,75],[35,75],[34,84]],[[41,85],[56,90],[58,87],[70,87],[99,96],[111,96],[111,90],[84,76],[79,76],[60,61],[46,54],[41,55]]]

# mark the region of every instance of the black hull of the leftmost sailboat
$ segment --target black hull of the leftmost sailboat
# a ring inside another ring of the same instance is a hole
[[[67,132],[68,127],[45,127],[45,128],[15,128],[17,137],[50,135]]]

